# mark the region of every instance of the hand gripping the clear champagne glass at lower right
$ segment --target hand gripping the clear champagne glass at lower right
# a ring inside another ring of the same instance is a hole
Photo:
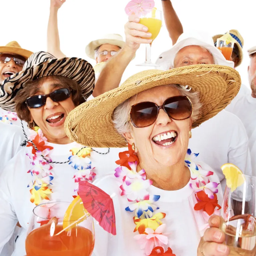
[[[210,228],[208,228],[202,237],[197,256],[227,256],[230,249],[222,244],[225,241],[225,234],[219,229],[221,219],[219,216],[212,216],[209,219]]]

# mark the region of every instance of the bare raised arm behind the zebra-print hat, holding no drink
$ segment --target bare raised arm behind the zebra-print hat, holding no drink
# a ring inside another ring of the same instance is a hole
[[[47,28],[47,52],[56,58],[64,58],[66,55],[60,50],[60,37],[58,30],[58,10],[66,0],[51,0],[50,16]]]

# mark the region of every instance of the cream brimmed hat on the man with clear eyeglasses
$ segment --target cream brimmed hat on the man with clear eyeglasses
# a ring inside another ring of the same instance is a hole
[[[103,44],[113,44],[119,46],[120,48],[123,48],[125,41],[123,37],[119,34],[104,35],[100,39],[94,40],[86,46],[86,55],[91,59],[95,59],[95,49]]]

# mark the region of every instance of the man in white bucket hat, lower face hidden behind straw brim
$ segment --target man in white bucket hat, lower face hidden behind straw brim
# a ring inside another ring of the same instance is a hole
[[[183,33],[170,50],[159,56],[156,63],[164,70],[195,64],[234,67],[234,62],[227,61],[214,46],[212,37],[196,32]],[[244,173],[252,174],[248,136],[241,120],[232,113],[221,111],[193,129],[192,135],[189,147],[193,152],[201,152],[198,157],[213,167],[222,188],[225,188],[225,177],[220,167],[224,163],[233,163]]]

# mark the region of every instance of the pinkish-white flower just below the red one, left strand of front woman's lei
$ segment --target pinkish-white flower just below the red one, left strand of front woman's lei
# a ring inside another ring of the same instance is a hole
[[[132,180],[137,178],[137,179],[142,179],[146,180],[146,172],[144,169],[140,170],[137,172],[137,165],[138,162],[128,162],[128,165],[130,166],[131,170],[129,170],[125,166],[119,166],[115,169],[115,177],[116,178],[122,178],[123,182],[127,186],[129,186],[132,183]]]

